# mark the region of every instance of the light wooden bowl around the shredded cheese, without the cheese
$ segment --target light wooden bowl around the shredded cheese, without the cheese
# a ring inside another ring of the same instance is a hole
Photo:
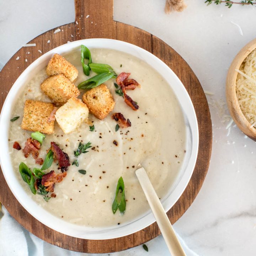
[[[251,127],[251,124],[245,118],[239,106],[238,98],[236,97],[236,78],[238,72],[235,71],[236,69],[240,68],[244,59],[254,49],[256,49],[256,39],[246,44],[246,46],[240,50],[240,52],[236,55],[233,62],[231,63],[226,78],[226,101],[231,117],[239,129],[251,139],[256,140],[256,129]]]

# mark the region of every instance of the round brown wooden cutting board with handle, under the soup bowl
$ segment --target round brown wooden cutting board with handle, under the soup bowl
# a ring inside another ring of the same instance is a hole
[[[29,43],[35,43],[36,46],[22,47],[4,66],[0,72],[1,108],[7,92],[22,71],[43,53],[67,41],[84,38],[113,38],[135,44],[153,53],[176,73],[186,87],[196,110],[199,127],[196,167],[186,190],[167,213],[171,223],[175,223],[197,196],[208,170],[212,150],[210,112],[196,75],[185,60],[159,38],[139,28],[113,21],[113,0],[75,0],[75,22],[59,28],[58,33],[54,33],[56,29],[53,29],[34,38]],[[48,40],[50,43],[47,43]],[[17,56],[20,56],[19,60],[16,60]],[[153,223],[137,233],[117,239],[86,240],[67,236],[48,228],[33,218],[10,191],[2,171],[0,171],[0,188],[0,201],[18,223],[44,241],[68,250],[88,253],[121,251],[143,244],[160,234],[157,224]]]

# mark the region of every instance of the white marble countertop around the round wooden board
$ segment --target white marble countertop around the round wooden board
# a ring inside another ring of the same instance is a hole
[[[234,123],[227,129],[231,119],[225,103],[225,78],[236,53],[256,36],[256,7],[228,9],[224,4],[206,6],[204,0],[185,0],[185,11],[166,15],[164,2],[114,0],[114,19],[164,40],[188,62],[203,89],[214,93],[207,95],[213,123],[209,171],[197,198],[174,228],[190,248],[188,255],[255,255],[256,145]],[[32,38],[73,21],[73,0],[0,1],[0,68]],[[33,236],[28,239],[23,229],[21,233],[33,251],[13,254],[10,250],[9,255],[41,255],[36,246],[44,249],[44,255],[80,255]],[[1,241],[0,255],[1,246],[5,247]],[[148,253],[139,246],[111,255],[169,255],[161,236],[147,245]]]

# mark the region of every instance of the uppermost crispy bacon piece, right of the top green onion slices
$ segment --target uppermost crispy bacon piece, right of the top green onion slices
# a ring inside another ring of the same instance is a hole
[[[127,79],[129,75],[130,73],[122,72],[117,76],[116,81],[117,84],[121,86],[123,91],[124,102],[133,110],[138,110],[138,104],[126,94],[126,90],[134,90],[137,86],[139,86],[139,83],[134,79]]]

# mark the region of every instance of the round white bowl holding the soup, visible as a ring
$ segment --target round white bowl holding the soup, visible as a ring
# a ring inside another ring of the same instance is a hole
[[[10,190],[17,198],[18,202],[20,202],[20,204],[34,218],[39,220],[44,225],[47,225],[49,228],[52,228],[60,233],[74,236],[77,238],[118,238],[121,236],[135,233],[155,222],[153,214],[151,212],[147,212],[143,217],[139,219],[135,219],[129,223],[112,228],[87,228],[85,226],[79,226],[65,222],[64,220],[55,217],[54,215],[44,210],[42,207],[38,206],[36,202],[33,201],[33,199],[27,196],[25,190],[23,189],[24,184],[21,184],[18,181],[15,175],[15,171],[12,168],[8,150],[9,124],[11,119],[12,107],[15,104],[17,92],[22,90],[27,82],[30,81],[30,79],[35,76],[38,71],[42,70],[47,65],[54,53],[68,53],[71,50],[79,47],[81,44],[86,45],[88,48],[115,49],[121,52],[132,54],[142,59],[144,62],[148,63],[156,71],[158,71],[158,73],[160,73],[166,79],[166,81],[174,91],[178,101],[180,102],[183,116],[185,119],[187,152],[185,154],[185,158],[183,160],[183,164],[176,178],[176,181],[168,191],[167,196],[165,198],[162,198],[161,200],[165,211],[167,212],[180,198],[193,173],[198,151],[199,135],[197,118],[191,99],[180,79],[178,79],[175,73],[164,62],[138,46],[113,39],[84,39],[64,44],[50,50],[46,54],[43,54],[23,71],[23,73],[18,77],[11,90],[9,91],[9,94],[6,97],[4,106],[2,107],[1,111],[0,164],[5,180],[10,187]]]

